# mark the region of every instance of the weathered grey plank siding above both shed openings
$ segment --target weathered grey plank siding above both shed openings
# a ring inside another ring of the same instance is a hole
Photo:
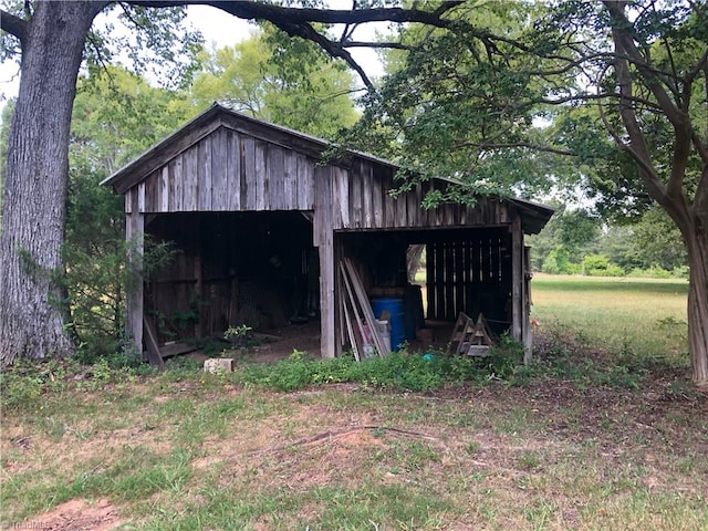
[[[327,165],[315,184],[313,156],[243,132],[218,127],[126,190],[126,212],[313,210],[316,190],[326,197],[315,217],[326,230],[416,229],[511,223],[506,204],[482,200],[475,208],[446,204],[425,210],[423,185],[393,198],[394,169],[354,157],[350,167]]]

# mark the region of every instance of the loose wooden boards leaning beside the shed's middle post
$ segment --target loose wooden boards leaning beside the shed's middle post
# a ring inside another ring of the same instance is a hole
[[[366,290],[356,272],[356,268],[348,258],[340,262],[342,281],[341,314],[344,329],[356,361],[369,357],[372,350],[381,357],[385,357],[391,348],[378,330],[374,311],[372,310]]]

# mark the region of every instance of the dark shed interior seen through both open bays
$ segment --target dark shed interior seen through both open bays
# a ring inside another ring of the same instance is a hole
[[[242,324],[279,334],[292,329],[291,335],[303,323],[319,326],[311,219],[309,212],[269,211],[165,214],[149,220],[148,237],[171,242],[175,251],[145,284],[145,314],[160,344],[222,336]],[[420,339],[420,329],[451,326],[460,312],[472,319],[483,313],[497,334],[511,324],[506,227],[337,232],[335,241],[356,264],[374,313],[393,310],[392,324],[399,319],[394,347]],[[415,285],[417,268],[409,260],[421,247],[425,281]]]

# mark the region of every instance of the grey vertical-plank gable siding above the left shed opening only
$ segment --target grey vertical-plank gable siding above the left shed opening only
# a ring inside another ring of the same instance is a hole
[[[312,210],[315,166],[308,155],[219,127],[126,196],[137,196],[140,212]]]

